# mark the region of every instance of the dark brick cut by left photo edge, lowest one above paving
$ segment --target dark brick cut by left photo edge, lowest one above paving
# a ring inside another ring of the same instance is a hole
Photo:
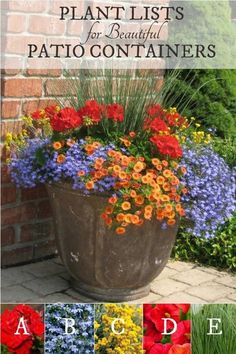
[[[16,265],[30,262],[33,259],[33,246],[2,250],[2,266]]]

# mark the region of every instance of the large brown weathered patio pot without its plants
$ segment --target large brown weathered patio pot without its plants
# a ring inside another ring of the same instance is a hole
[[[69,184],[48,185],[59,255],[81,294],[102,301],[128,301],[148,295],[165,267],[176,227],[156,220],[116,235],[104,225],[107,197],[84,195]]]

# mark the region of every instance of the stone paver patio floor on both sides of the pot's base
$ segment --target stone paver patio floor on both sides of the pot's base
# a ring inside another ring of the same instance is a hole
[[[2,270],[2,303],[94,303],[75,292],[59,258]],[[150,294],[135,303],[234,303],[236,277],[214,268],[169,261]]]

